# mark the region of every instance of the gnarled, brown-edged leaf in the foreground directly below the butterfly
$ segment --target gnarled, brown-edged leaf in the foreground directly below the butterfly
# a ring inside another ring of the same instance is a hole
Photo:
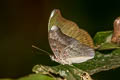
[[[59,65],[54,67],[36,65],[33,68],[33,72],[48,74],[57,80],[84,80],[85,78],[88,78],[87,80],[92,80],[88,73],[70,65]]]

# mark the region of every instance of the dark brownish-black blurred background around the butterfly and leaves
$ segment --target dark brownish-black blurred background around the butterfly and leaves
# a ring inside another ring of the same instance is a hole
[[[98,31],[113,29],[114,19],[120,16],[118,1],[1,0],[0,77],[21,77],[32,73],[31,69],[35,64],[52,64],[48,61],[49,57],[32,53],[31,44],[51,52],[47,40],[47,25],[53,9],[60,9],[65,18],[76,22],[94,37]],[[110,80],[109,76],[113,72],[116,77],[120,69],[100,74]]]

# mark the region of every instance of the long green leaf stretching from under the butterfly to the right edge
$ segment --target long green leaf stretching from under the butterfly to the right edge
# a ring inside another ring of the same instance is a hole
[[[120,49],[102,53],[96,51],[95,58],[81,64],[74,64],[79,69],[88,72],[90,75],[120,67]]]

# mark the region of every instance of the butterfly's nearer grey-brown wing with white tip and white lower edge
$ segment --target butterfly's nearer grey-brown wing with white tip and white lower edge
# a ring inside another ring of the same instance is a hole
[[[92,48],[63,34],[57,26],[49,31],[49,43],[54,53],[51,58],[61,64],[80,63],[94,57]]]

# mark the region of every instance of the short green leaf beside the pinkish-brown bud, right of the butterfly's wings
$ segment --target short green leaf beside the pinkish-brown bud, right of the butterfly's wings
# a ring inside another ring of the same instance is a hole
[[[94,44],[98,50],[111,50],[120,48],[119,45],[111,42],[112,31],[97,32],[94,37]]]

